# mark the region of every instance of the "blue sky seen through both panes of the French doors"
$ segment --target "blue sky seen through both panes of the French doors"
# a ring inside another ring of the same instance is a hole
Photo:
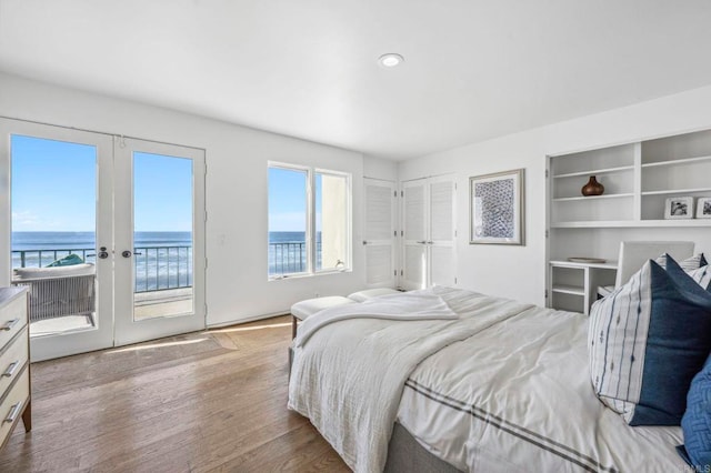
[[[94,231],[96,148],[12,135],[12,230]],[[192,162],[134,155],[137,231],[190,231]]]

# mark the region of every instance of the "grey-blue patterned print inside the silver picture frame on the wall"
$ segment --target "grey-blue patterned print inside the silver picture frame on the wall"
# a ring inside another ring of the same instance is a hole
[[[475,236],[513,238],[513,179],[474,184]]]

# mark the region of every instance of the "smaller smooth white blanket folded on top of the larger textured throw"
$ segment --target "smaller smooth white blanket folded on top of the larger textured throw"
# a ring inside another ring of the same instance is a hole
[[[294,341],[302,346],[313,333],[329,323],[341,320],[368,318],[392,320],[457,319],[458,315],[437,294],[405,292],[320,311],[308,318],[299,328]]]

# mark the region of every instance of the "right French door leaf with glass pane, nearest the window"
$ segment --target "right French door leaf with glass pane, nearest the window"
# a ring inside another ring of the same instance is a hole
[[[116,344],[204,328],[204,152],[120,139]]]

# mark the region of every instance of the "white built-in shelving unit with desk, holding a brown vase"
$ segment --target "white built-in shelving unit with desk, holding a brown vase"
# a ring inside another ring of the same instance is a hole
[[[583,197],[591,175],[604,193]],[[548,304],[588,313],[597,280],[613,266],[570,256],[617,259],[623,240],[694,240],[711,252],[711,219],[664,219],[667,199],[711,198],[711,130],[549,157]]]

